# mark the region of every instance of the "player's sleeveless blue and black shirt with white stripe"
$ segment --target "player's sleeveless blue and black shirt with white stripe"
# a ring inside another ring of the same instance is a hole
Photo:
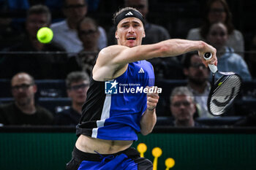
[[[129,63],[126,72],[111,81],[99,82],[91,77],[77,135],[137,140],[140,118],[147,107],[143,93],[146,86],[154,86],[154,70],[148,61]]]

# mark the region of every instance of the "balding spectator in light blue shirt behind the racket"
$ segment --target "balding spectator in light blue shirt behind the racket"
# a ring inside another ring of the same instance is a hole
[[[222,72],[236,72],[243,80],[251,80],[251,74],[244,59],[226,45],[227,27],[223,23],[214,23],[207,34],[207,42],[217,49],[218,69]],[[220,77],[216,74],[216,77]]]

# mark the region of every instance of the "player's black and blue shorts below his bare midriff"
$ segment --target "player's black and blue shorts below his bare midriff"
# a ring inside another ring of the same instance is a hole
[[[135,148],[114,154],[86,153],[74,147],[72,160],[67,163],[67,170],[102,169],[102,170],[152,170],[151,161],[140,158],[140,153]]]

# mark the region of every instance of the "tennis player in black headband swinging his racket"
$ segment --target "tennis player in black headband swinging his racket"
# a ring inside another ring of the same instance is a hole
[[[213,54],[210,61],[202,59],[204,64],[217,65],[216,50],[205,42],[169,39],[154,45],[141,45],[146,36],[145,20],[137,9],[120,9],[113,21],[118,45],[99,52],[77,125],[79,137],[67,169],[153,169],[151,161],[140,158],[131,147],[138,139],[137,133],[151,133],[157,120],[158,89],[151,87],[154,86],[154,70],[145,60],[197,50],[202,58],[206,52]],[[109,83],[110,89],[117,92],[116,87],[128,89],[139,85],[140,90],[130,89],[129,92],[140,94],[124,93],[128,90],[108,94],[105,90]],[[153,93],[141,93],[141,88],[145,92],[147,86],[154,88]]]

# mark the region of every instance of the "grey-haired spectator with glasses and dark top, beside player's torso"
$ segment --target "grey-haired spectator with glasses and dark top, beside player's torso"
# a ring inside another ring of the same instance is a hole
[[[89,75],[86,72],[71,72],[66,79],[67,95],[72,99],[72,106],[56,114],[54,124],[77,125],[82,114],[89,88]]]

